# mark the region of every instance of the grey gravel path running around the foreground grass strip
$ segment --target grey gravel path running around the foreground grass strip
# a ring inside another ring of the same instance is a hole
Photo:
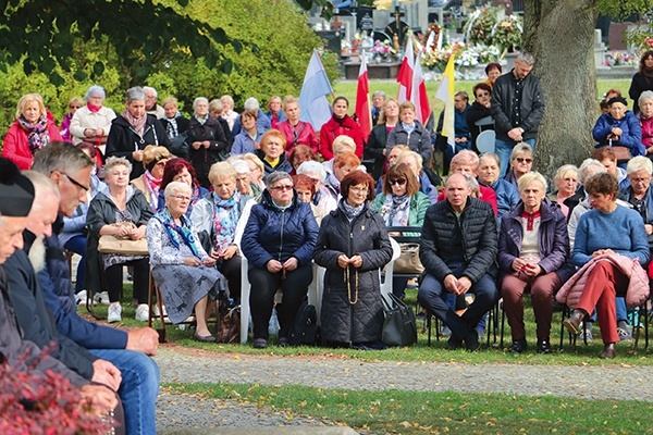
[[[528,396],[609,398],[653,402],[653,371],[605,365],[461,364],[341,360],[326,357],[258,357],[160,348],[162,383],[225,382],[298,384],[321,388],[407,389],[415,391],[508,393]],[[288,419],[230,400],[162,391],[157,403],[160,428],[180,426],[322,425]]]

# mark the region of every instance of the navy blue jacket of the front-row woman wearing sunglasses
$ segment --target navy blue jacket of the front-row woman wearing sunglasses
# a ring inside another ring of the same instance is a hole
[[[251,208],[241,249],[250,269],[266,268],[270,260],[283,263],[291,257],[304,266],[312,261],[319,231],[310,204],[299,202],[296,192],[291,207],[282,211],[266,189],[261,203]]]

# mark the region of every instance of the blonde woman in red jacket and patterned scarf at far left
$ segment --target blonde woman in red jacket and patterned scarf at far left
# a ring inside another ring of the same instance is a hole
[[[38,94],[27,94],[19,100],[16,121],[7,132],[2,156],[21,170],[28,170],[34,154],[51,141],[62,140],[59,128],[48,120],[46,107]]]

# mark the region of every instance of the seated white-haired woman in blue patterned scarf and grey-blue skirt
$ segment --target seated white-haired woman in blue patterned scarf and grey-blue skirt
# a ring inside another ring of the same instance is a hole
[[[209,298],[221,289],[222,275],[213,269],[215,260],[202,249],[193,223],[185,213],[192,189],[185,183],[172,182],[165,187],[165,208],[147,225],[152,276],[161,290],[173,323],[186,320],[195,308],[197,326],[193,338],[215,341],[207,327]]]

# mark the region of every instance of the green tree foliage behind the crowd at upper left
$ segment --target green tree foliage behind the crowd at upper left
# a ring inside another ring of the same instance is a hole
[[[286,0],[9,0],[0,12],[0,134],[22,95],[41,94],[60,121],[69,99],[95,83],[119,113],[124,90],[143,84],[186,112],[197,96],[264,103],[298,94],[322,47]],[[337,57],[323,63],[334,80]]]

